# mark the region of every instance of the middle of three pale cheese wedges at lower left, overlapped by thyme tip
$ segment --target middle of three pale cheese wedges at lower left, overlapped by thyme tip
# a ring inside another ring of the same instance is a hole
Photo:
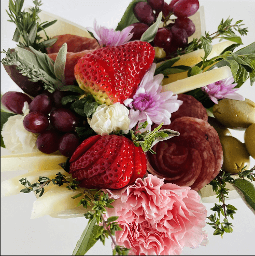
[[[64,169],[55,169],[55,170],[36,170],[36,171],[30,171],[24,174],[21,174],[20,176],[16,176],[12,179],[5,180],[1,183],[1,197],[5,196],[12,196],[17,195],[20,193],[20,191],[25,188],[24,185],[20,183],[20,179],[26,178],[28,181],[30,181],[32,184],[35,182],[38,182],[39,176],[41,177],[48,177],[49,179],[54,179],[56,177],[56,173],[61,172],[66,177],[71,177],[72,174],[69,174]],[[53,187],[53,183],[51,182],[49,185],[46,185],[45,192],[49,191]],[[39,197],[39,193],[36,194],[36,196]]]

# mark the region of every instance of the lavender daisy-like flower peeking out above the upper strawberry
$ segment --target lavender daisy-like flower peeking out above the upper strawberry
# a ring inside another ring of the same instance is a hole
[[[94,20],[94,29],[86,28],[92,32],[101,47],[105,46],[119,46],[130,41],[133,33],[130,34],[133,26],[127,26],[122,31],[115,31],[114,29],[107,29],[105,26],[97,26]]]

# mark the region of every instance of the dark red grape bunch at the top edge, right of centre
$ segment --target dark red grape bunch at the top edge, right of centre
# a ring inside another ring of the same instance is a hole
[[[141,35],[155,22],[162,11],[163,28],[159,28],[151,44],[163,48],[167,55],[175,52],[178,48],[185,48],[188,37],[195,32],[195,24],[188,17],[195,14],[199,9],[199,0],[172,0],[170,4],[164,0],[147,0],[138,2],[134,6],[134,15],[139,20],[133,23],[131,40],[139,40]],[[171,15],[177,19],[171,20]]]

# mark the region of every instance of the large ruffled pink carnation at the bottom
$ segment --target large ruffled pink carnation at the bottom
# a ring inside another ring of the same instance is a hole
[[[190,187],[164,184],[148,174],[144,180],[107,193],[116,200],[106,217],[119,216],[122,231],[116,232],[120,246],[132,248],[130,255],[179,255],[183,247],[204,244],[206,207]]]

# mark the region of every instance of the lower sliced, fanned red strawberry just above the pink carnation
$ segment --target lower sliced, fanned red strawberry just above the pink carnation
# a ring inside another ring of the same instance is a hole
[[[118,189],[143,178],[147,170],[141,147],[124,136],[96,135],[84,140],[70,158],[81,187]]]

